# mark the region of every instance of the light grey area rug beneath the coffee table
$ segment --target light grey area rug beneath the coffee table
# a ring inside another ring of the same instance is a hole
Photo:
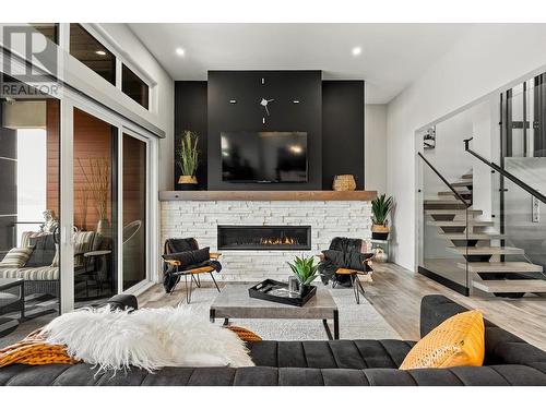
[[[330,292],[340,311],[340,338],[345,339],[401,339],[376,309],[360,297],[360,304],[355,301],[352,288],[330,288]],[[198,288],[192,292],[191,304],[186,299],[179,306],[191,308],[209,317],[209,309],[217,296],[214,288]],[[216,320],[218,325],[223,320]],[[261,336],[275,340],[319,340],[328,339],[320,320],[230,320],[234,325],[242,326]],[[330,322],[333,328],[333,323]]]

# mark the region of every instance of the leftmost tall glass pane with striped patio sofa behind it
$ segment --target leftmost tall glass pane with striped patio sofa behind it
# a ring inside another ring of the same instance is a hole
[[[45,320],[59,312],[59,118],[60,103],[52,97],[0,97],[0,261],[19,254],[10,268],[0,268],[0,337],[23,314]],[[16,278],[24,278],[24,289],[12,286]]]

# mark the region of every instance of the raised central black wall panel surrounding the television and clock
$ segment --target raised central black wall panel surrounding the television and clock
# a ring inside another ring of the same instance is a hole
[[[263,79],[263,84],[262,84]],[[322,188],[321,71],[209,71],[209,189],[320,190]],[[270,103],[271,116],[260,106]],[[236,104],[230,104],[235,99]],[[299,104],[294,104],[299,100]],[[262,119],[265,118],[265,123]],[[307,183],[222,181],[223,131],[307,132]]]

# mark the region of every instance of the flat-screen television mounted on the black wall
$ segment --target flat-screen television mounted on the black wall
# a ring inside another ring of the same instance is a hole
[[[307,182],[307,132],[222,132],[227,182]]]

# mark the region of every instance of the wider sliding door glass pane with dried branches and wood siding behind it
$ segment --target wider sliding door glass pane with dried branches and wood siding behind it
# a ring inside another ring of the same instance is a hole
[[[118,292],[118,128],[73,113],[74,300]]]

